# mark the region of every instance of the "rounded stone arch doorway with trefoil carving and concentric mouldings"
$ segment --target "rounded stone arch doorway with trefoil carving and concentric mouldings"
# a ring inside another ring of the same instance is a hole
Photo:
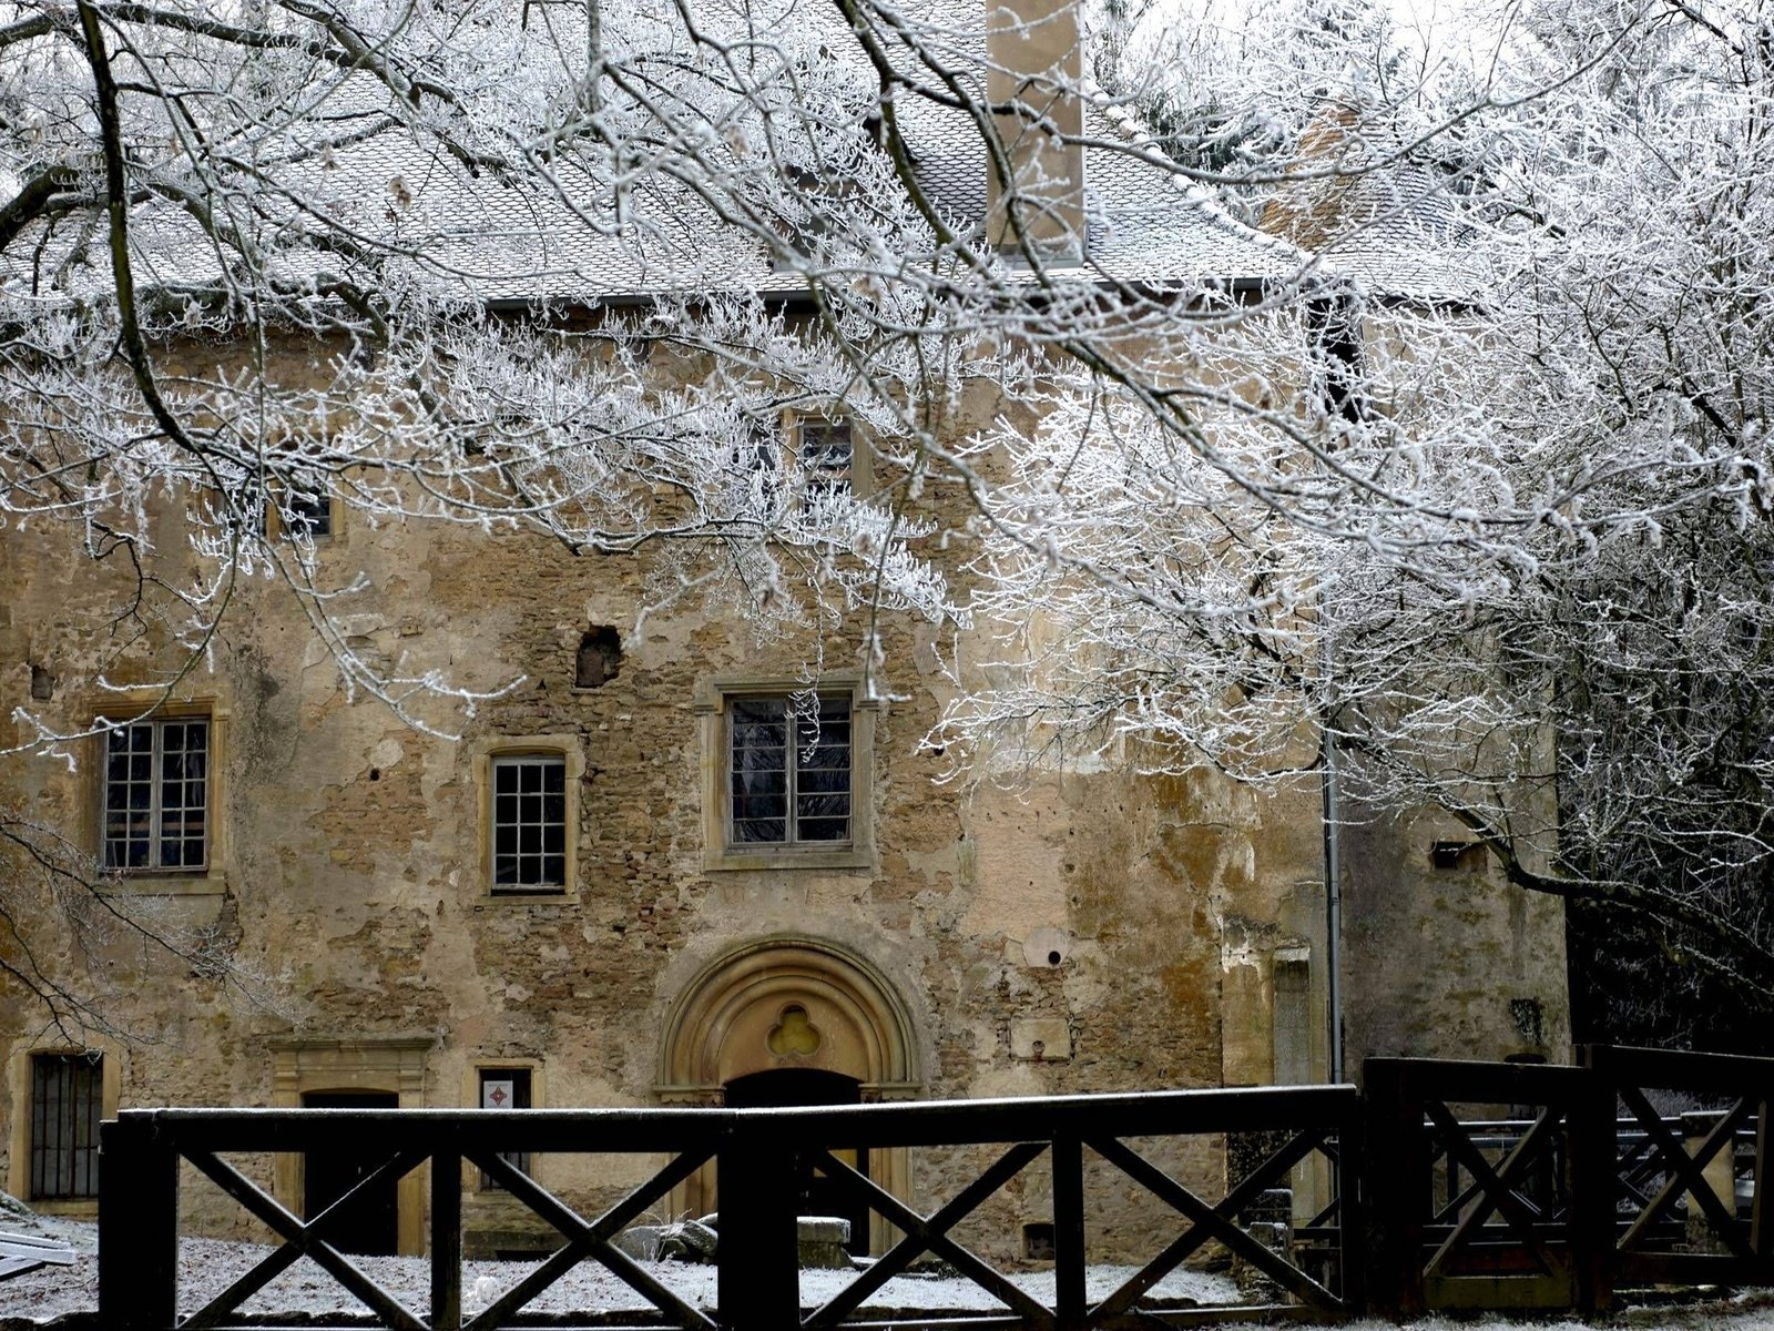
[[[823,1088],[812,1102],[830,1102],[839,1084],[862,1102],[910,1100],[922,1090],[912,1022],[887,978],[848,948],[800,937],[761,939],[717,957],[671,1004],[660,1100],[718,1106],[734,1083],[734,1100],[749,1104],[797,1102],[797,1088]],[[903,1148],[873,1152],[866,1166],[869,1178],[910,1200]],[[672,1189],[671,1207],[718,1209],[713,1166]],[[873,1216],[871,1251],[892,1233]]]

